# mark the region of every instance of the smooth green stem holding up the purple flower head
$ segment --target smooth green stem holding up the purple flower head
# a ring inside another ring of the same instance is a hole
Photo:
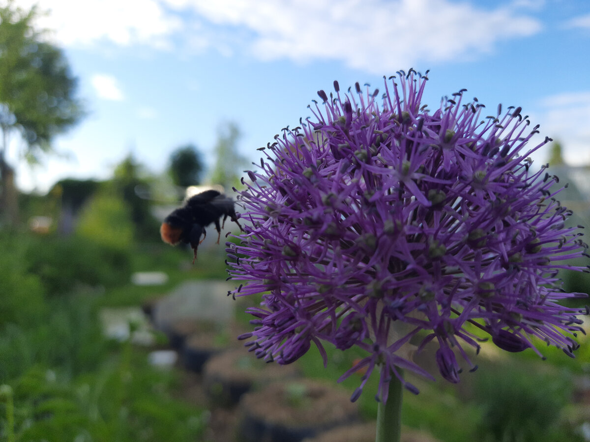
[[[401,372],[400,368],[397,370]],[[402,383],[392,374],[387,403],[379,402],[377,406],[375,442],[399,442],[402,428],[402,396]]]

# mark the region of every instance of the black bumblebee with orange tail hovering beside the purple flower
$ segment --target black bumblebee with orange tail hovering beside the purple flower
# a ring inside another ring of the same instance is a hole
[[[223,222],[219,226],[221,216],[223,216]],[[193,262],[195,262],[196,249],[207,238],[205,227],[215,223],[215,230],[218,233],[217,243],[219,244],[221,229],[225,225],[228,216],[230,220],[240,227],[240,230],[244,230],[238,222],[238,215],[234,209],[234,200],[217,192],[217,190],[205,190],[205,192],[190,197],[184,206],[166,216],[162,226],[160,226],[160,235],[164,242],[173,246],[181,242],[190,244],[194,250]],[[201,236],[203,236],[203,239],[201,239]]]

